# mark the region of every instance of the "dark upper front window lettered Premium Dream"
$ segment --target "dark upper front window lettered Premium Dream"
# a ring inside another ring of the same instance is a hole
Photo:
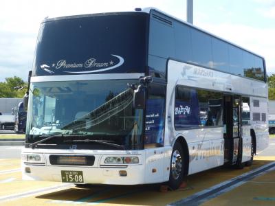
[[[144,73],[147,16],[124,12],[45,21],[34,76]]]

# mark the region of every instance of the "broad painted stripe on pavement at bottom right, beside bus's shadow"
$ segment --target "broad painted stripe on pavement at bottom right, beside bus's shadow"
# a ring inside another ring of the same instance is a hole
[[[244,174],[241,174],[240,176],[236,176],[228,181],[224,181],[222,183],[209,187],[206,190],[202,190],[201,192],[197,192],[196,194],[188,196],[187,198],[183,198],[175,203],[170,203],[168,205],[200,205],[225,192],[233,190],[235,187],[239,187],[240,185],[247,183],[251,179],[254,179],[256,176],[260,176],[274,170],[275,162],[268,163],[261,166],[260,168],[252,170],[250,172],[246,172]]]

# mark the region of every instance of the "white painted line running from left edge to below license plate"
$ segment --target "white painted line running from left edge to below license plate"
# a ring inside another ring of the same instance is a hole
[[[27,196],[37,195],[37,194],[41,194],[43,192],[53,192],[55,190],[58,190],[58,189],[61,189],[64,187],[72,187],[73,185],[74,184],[72,184],[72,183],[65,183],[63,185],[44,187],[44,188],[41,188],[38,190],[29,191],[29,192],[22,192],[22,193],[12,194],[12,195],[8,195],[8,196],[0,196],[0,202],[12,201],[17,198],[23,198],[23,197],[27,197]]]

